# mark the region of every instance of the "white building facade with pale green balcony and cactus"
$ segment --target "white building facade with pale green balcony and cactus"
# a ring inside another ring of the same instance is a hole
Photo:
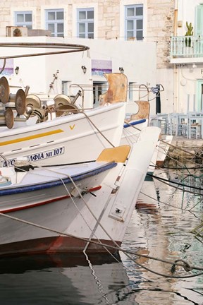
[[[202,112],[203,3],[176,1],[175,30],[168,61],[174,71],[176,112]]]

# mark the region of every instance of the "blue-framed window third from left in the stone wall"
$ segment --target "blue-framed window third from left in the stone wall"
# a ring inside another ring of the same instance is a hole
[[[77,11],[78,37],[94,38],[94,8],[80,8]]]

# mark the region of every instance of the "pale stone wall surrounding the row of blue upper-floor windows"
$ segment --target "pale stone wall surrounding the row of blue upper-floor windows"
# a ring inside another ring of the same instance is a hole
[[[175,0],[144,0],[147,3],[147,41],[156,41],[157,43],[157,68],[169,68],[167,56],[170,53],[170,38],[173,33]],[[132,1],[133,2],[133,1]],[[136,2],[135,2],[136,3]],[[142,1],[140,1],[142,3]],[[59,8],[66,7],[68,16],[66,32],[67,37],[73,37],[73,5],[84,7],[98,7],[97,37],[96,39],[122,39],[120,37],[120,1],[119,0],[8,0],[1,4],[0,35],[6,35],[6,26],[13,25],[12,10],[31,10],[35,8],[35,28],[43,29],[41,24],[41,7]],[[145,4],[144,4],[145,5]],[[150,56],[150,54],[149,54]]]

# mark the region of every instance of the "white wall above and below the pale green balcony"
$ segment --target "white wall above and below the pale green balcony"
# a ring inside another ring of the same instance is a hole
[[[177,36],[185,36],[186,21],[192,23],[195,35],[195,8],[202,4],[201,0],[178,0],[177,4]],[[181,60],[181,59],[180,59]],[[171,64],[174,71],[175,112],[197,111],[197,83],[203,80],[203,62],[199,58],[186,59],[184,64]],[[180,61],[181,62],[181,61]],[[194,62],[196,67],[193,68]],[[196,104],[194,101],[196,100]]]

